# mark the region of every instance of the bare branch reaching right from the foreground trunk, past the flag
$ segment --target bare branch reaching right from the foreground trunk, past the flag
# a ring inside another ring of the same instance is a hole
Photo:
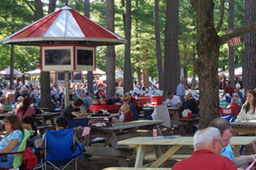
[[[233,31],[229,34],[225,34],[224,36],[220,37],[219,45],[224,44],[224,42],[230,40],[233,37],[241,36],[244,33],[247,33],[248,31],[251,31],[256,28],[256,22],[253,22],[250,25],[244,26],[236,31]]]

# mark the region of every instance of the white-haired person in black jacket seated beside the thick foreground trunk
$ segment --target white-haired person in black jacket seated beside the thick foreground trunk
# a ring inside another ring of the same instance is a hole
[[[188,92],[185,96],[185,102],[182,106],[182,110],[189,109],[193,115],[198,115],[198,104],[192,94]]]

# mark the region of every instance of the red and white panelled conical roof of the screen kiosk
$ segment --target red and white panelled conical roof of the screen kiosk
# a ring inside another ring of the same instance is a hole
[[[23,45],[45,43],[114,45],[125,42],[127,41],[123,37],[67,6],[3,39],[3,43]]]

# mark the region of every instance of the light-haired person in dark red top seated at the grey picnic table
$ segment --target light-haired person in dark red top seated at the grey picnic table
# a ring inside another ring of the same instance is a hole
[[[117,122],[131,122],[133,121],[133,113],[130,110],[130,106],[128,104],[124,104],[121,106],[121,111],[119,112],[119,119],[113,117],[111,119],[111,123],[117,123]]]

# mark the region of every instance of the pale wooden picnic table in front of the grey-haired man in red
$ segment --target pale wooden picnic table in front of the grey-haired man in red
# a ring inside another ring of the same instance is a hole
[[[256,137],[251,136],[238,136],[230,139],[230,145],[234,149],[234,155],[239,156],[239,148],[241,144],[252,144],[256,140]],[[193,146],[193,137],[180,137],[180,136],[162,136],[162,137],[137,137],[131,139],[125,139],[118,142],[121,145],[129,145],[130,147],[137,148],[137,156],[135,167],[160,167],[165,161],[180,150],[183,145]],[[172,145],[169,150],[166,150],[164,154],[161,154],[160,145]],[[155,149],[155,161],[150,165],[143,166],[144,152],[148,147]]]

